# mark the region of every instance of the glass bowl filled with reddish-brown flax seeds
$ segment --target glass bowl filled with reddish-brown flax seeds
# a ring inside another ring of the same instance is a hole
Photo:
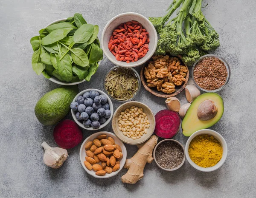
[[[202,91],[220,91],[229,82],[230,66],[218,55],[204,55],[193,65],[192,79]]]

